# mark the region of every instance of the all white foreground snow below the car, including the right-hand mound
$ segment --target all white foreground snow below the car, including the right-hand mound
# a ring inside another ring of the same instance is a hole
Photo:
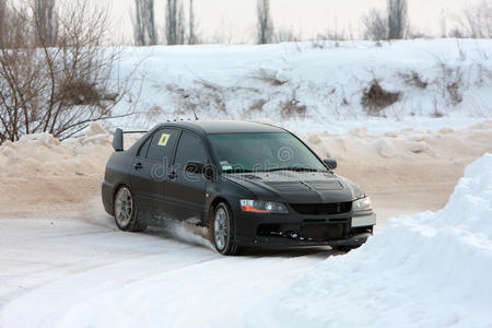
[[[492,325],[492,154],[466,168],[443,210],[390,220],[343,256],[222,257],[183,225],[130,234],[80,215],[2,220],[0,326]]]

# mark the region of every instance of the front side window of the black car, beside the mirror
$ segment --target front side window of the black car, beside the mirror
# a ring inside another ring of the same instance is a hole
[[[192,132],[183,131],[174,164],[184,169],[188,162],[207,164],[208,157],[200,138]]]

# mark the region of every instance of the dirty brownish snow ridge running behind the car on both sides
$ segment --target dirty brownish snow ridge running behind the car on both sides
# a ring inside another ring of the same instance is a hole
[[[469,163],[492,151],[489,142],[492,140],[492,120],[460,131],[449,128],[418,131],[409,128],[371,134],[367,128],[359,128],[341,134],[311,131],[298,136],[321,157],[340,161],[342,171],[347,165],[361,161],[366,165],[390,161],[403,168],[412,162],[425,164],[423,161],[436,159]],[[126,138],[126,148],[139,137]],[[98,124],[93,124],[85,136],[63,142],[48,133],[24,136],[17,142],[7,141],[0,145],[0,176],[102,175],[113,152],[110,141],[112,136]]]

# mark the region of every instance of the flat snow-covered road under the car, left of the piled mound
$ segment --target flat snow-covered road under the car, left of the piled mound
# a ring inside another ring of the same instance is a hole
[[[255,298],[335,254],[222,257],[183,226],[130,234],[104,214],[89,221],[0,220],[0,327],[237,327]]]

